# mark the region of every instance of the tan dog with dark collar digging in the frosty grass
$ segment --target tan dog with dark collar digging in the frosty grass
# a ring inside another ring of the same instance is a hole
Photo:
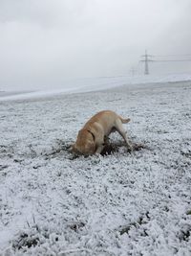
[[[111,110],[98,112],[79,130],[73,151],[84,155],[100,153],[105,146],[105,140],[114,131],[118,131],[128,148],[132,150],[122,127],[122,124],[128,122],[130,122],[129,118],[123,119]]]

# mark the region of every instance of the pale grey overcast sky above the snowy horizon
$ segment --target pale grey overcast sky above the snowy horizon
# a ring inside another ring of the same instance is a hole
[[[145,49],[191,54],[190,0],[0,0],[0,89],[128,75]]]

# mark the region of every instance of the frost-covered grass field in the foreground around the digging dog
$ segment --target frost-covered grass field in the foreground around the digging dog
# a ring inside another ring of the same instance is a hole
[[[190,256],[190,99],[184,81],[0,102],[0,255]],[[75,158],[102,109],[144,148]]]

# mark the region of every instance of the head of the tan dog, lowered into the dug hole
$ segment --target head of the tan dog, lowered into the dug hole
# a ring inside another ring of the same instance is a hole
[[[88,130],[79,130],[76,142],[73,145],[73,151],[74,153],[83,155],[90,155],[96,152],[93,135]]]

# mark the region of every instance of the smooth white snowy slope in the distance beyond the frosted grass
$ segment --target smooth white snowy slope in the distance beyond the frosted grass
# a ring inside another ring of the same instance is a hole
[[[69,94],[74,92],[90,92],[113,88],[122,85],[134,87],[138,84],[144,85],[151,82],[172,82],[172,81],[191,81],[191,74],[167,74],[160,76],[119,76],[119,77],[100,77],[86,78],[65,81],[61,87],[53,85],[53,89],[32,90],[32,91],[0,91],[0,101],[34,99],[50,97],[53,95]]]

